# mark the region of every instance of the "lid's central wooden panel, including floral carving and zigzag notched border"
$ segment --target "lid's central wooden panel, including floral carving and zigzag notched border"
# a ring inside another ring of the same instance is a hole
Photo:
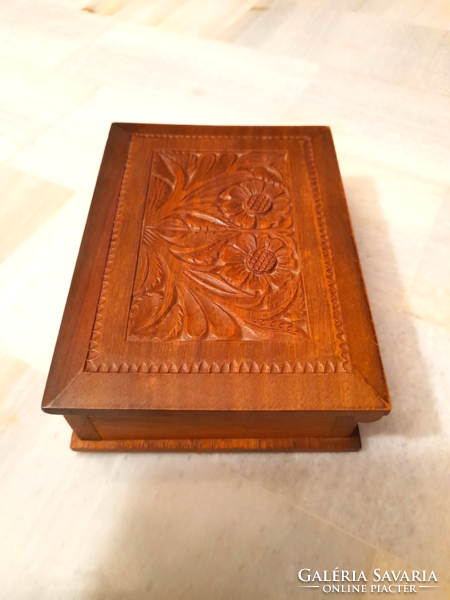
[[[311,139],[230,139],[133,134],[87,371],[351,371]]]

